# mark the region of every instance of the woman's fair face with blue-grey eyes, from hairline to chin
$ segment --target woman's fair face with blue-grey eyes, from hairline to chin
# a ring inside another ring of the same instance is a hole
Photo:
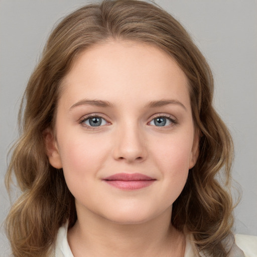
[[[49,161],[63,168],[77,212],[123,224],[171,214],[198,151],[175,61],[110,41],[83,52],[62,87]]]

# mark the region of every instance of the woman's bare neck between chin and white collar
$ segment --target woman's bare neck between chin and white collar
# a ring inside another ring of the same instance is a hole
[[[77,214],[68,231],[74,257],[184,256],[185,238],[171,225],[171,209],[136,224],[118,224],[91,212]]]

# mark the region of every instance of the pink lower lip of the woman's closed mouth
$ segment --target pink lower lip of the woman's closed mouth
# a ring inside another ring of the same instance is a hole
[[[155,180],[104,180],[110,186],[123,189],[123,190],[137,190],[152,185]]]

